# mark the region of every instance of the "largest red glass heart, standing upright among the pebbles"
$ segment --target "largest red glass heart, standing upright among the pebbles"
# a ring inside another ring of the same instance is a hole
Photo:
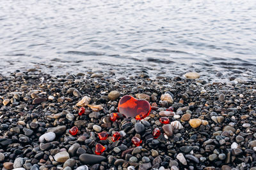
[[[149,115],[151,106],[148,101],[138,100],[132,96],[126,95],[120,99],[118,111],[127,118],[135,117],[136,120],[141,120]]]

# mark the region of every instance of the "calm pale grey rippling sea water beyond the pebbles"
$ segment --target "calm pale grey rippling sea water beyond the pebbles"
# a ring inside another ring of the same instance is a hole
[[[2,0],[0,71],[255,75],[256,1]]]

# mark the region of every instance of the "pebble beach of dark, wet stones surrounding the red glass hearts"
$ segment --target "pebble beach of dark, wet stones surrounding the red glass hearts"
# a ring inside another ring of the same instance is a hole
[[[147,73],[115,78],[115,73],[104,72],[76,76],[50,76],[42,72],[0,75],[0,167],[10,162],[5,168],[253,169],[256,82],[240,80],[212,83],[181,75],[150,79]],[[108,94],[113,90],[120,96],[111,101]],[[172,96],[173,103],[160,101],[166,93]],[[150,104],[156,103],[150,115],[143,121],[120,117],[111,122],[109,113],[117,111],[119,99],[136,94],[147,94]],[[86,114],[79,116],[76,104],[83,96],[91,97],[90,104],[100,104],[103,109],[92,111],[86,107]],[[177,120],[183,128],[173,129],[166,138],[159,113],[170,106],[177,115],[170,115],[170,122]],[[190,117],[182,122],[185,114]],[[194,118],[206,122],[193,128],[189,120]],[[68,132],[74,125],[79,128],[76,136]],[[156,127],[161,136],[153,139]],[[56,137],[39,142],[40,136],[49,131]],[[99,140],[97,134],[102,131],[109,133],[106,141]],[[114,131],[124,131],[124,136],[115,143],[110,139]],[[141,138],[140,146],[132,145],[133,136]],[[97,143],[106,147],[102,157],[94,156]],[[61,157],[68,157],[68,162],[56,161],[60,151],[67,151]],[[87,155],[81,157],[83,154]]]

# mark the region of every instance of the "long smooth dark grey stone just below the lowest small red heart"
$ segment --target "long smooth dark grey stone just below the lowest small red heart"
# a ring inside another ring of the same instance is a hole
[[[79,160],[81,160],[83,164],[100,164],[100,162],[106,160],[106,157],[83,153],[79,156]]]

